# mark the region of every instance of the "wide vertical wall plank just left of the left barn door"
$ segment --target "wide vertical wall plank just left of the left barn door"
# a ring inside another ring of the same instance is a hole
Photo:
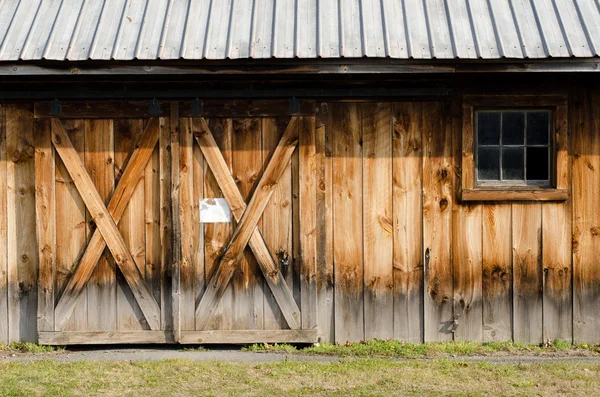
[[[6,109],[8,188],[9,342],[36,342],[38,250],[35,219],[33,114],[27,105]]]

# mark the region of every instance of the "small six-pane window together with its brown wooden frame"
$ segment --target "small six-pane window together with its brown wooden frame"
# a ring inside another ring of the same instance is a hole
[[[465,95],[461,199],[568,199],[567,131],[565,96]]]

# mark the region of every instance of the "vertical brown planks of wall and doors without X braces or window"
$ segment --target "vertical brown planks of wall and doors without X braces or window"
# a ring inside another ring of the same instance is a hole
[[[258,222],[301,309],[302,330],[317,326],[321,341],[339,343],[600,343],[597,90],[574,88],[562,117],[568,126],[554,126],[569,159],[557,171],[570,190],[562,202],[460,200],[462,178],[472,178],[461,169],[461,148],[464,133],[473,133],[464,131],[460,95],[317,109],[298,127],[300,146]],[[198,201],[223,193],[194,139],[199,119],[172,114],[160,119],[160,142],[118,227],[161,307],[161,329],[179,340],[197,328],[195,309],[235,222],[199,223]],[[207,119],[245,199],[288,121],[285,114]],[[147,122],[63,121],[105,203]],[[53,309],[95,230],[54,156],[51,132],[47,120],[35,122],[32,105],[0,106],[0,343],[35,342],[37,331],[65,322]],[[46,163],[54,166],[35,172]],[[249,249],[242,262],[206,329],[291,331]],[[148,329],[106,250],[65,331]]]

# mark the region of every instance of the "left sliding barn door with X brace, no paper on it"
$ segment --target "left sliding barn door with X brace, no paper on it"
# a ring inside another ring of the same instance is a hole
[[[169,119],[147,102],[49,109],[35,107],[40,343],[172,340]]]

